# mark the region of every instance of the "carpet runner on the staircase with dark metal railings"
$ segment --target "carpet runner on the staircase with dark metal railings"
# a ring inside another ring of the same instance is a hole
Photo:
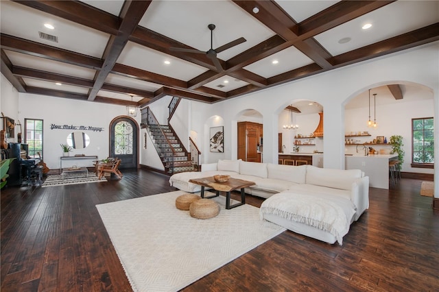
[[[161,127],[161,130],[160,130]],[[147,129],[149,130],[153,142],[156,145],[156,149],[158,152],[158,156],[160,156],[163,165],[165,166],[165,171],[168,173],[178,173],[184,171],[197,171],[191,160],[188,158],[188,154],[183,147],[181,147],[180,143],[176,139],[176,134],[169,128],[167,125],[148,125]],[[166,138],[163,138],[161,131],[165,133],[165,136],[171,147],[176,151],[175,156],[173,157],[172,149],[169,147]],[[172,165],[172,161],[174,160],[174,167]]]

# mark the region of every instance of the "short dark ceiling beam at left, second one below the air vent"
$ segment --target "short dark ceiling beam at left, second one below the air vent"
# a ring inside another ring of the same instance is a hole
[[[12,73],[15,76],[27,77],[36,80],[44,80],[48,82],[61,82],[62,84],[69,84],[73,86],[81,86],[86,88],[93,87],[92,80],[86,80],[84,78],[71,77],[67,75],[61,75],[57,73],[51,73],[36,69],[23,68],[19,66],[14,66],[12,68]]]

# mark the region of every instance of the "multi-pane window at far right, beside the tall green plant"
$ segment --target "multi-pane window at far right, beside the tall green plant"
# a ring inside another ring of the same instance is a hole
[[[412,167],[433,167],[433,118],[412,119]]]

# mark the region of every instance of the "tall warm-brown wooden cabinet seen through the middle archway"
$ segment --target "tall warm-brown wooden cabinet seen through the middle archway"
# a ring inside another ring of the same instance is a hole
[[[250,162],[261,162],[261,142],[263,141],[263,130],[261,123],[238,122],[238,159]]]

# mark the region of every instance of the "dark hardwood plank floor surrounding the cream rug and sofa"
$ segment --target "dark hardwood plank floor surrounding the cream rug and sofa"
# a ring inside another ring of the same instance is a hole
[[[175,188],[159,173],[123,174],[2,190],[1,291],[131,291],[95,205]],[[283,232],[184,291],[439,291],[439,212],[420,184],[370,188],[370,208],[342,246]]]

